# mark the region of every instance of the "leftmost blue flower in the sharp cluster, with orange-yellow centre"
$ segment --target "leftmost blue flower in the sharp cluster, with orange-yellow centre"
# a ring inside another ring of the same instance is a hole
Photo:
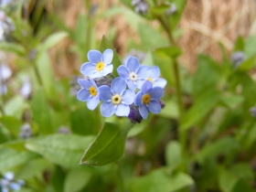
[[[100,102],[98,87],[94,80],[78,80],[82,87],[78,91],[77,98],[79,101],[87,101],[87,107],[90,110],[94,110]]]

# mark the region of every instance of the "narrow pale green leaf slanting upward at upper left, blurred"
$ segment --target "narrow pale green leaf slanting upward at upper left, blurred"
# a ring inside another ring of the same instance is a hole
[[[55,45],[57,45],[61,40],[63,40],[63,38],[68,37],[68,35],[69,34],[64,31],[50,35],[44,42],[42,42],[37,47],[38,55],[48,51],[49,48],[52,48]]]

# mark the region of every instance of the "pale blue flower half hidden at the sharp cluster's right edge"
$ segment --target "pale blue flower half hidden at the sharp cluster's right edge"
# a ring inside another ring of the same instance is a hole
[[[161,87],[164,88],[166,85],[166,80],[163,78],[159,78],[160,76],[160,69],[157,66],[151,68],[150,75],[146,78],[153,83],[153,87]],[[141,87],[138,87],[139,89]]]

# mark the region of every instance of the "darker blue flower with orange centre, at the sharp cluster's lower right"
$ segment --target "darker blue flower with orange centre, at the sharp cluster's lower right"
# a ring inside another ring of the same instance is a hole
[[[159,99],[163,96],[164,89],[161,87],[153,87],[151,81],[146,80],[141,91],[137,92],[134,105],[139,106],[139,112],[144,119],[147,118],[148,111],[152,113],[161,112]]]

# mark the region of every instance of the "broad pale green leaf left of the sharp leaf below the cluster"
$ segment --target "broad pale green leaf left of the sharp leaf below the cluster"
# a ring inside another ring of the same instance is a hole
[[[88,146],[92,139],[92,136],[52,134],[29,139],[26,147],[53,163],[65,167],[76,167],[84,152],[84,146]]]

